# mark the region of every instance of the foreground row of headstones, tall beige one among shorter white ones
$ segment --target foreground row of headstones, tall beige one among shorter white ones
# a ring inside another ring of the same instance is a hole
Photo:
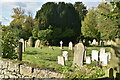
[[[105,53],[105,49],[100,49],[100,56],[98,56],[97,50],[92,50],[92,61],[99,61],[100,59],[102,66],[107,66],[108,61],[111,59],[110,53]],[[82,43],[78,43],[74,47],[74,58],[73,65],[83,66],[83,59],[86,59],[86,64],[91,64],[91,57],[86,57],[85,47]],[[68,52],[63,51],[62,56],[58,56],[58,64],[65,65],[65,62],[68,60]]]

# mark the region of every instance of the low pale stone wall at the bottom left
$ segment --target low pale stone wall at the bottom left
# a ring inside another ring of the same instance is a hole
[[[25,62],[0,59],[0,79],[4,78],[63,78],[63,75]]]

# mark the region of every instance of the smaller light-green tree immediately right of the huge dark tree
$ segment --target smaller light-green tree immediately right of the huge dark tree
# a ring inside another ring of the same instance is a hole
[[[100,33],[97,29],[97,21],[96,21],[96,11],[94,8],[90,9],[84,19],[82,21],[82,34],[85,37],[97,38],[99,40]]]

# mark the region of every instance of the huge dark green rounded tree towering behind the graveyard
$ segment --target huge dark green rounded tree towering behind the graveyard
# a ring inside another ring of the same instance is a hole
[[[50,29],[52,31],[51,38],[47,39],[50,43],[59,44],[59,41],[63,40],[68,44],[69,41],[75,42],[80,36],[81,19],[79,12],[71,3],[45,3],[37,11],[35,19],[39,22],[39,30]],[[35,33],[35,30],[33,32]]]

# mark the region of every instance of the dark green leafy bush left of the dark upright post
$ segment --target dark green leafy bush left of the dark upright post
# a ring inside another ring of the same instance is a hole
[[[13,29],[9,26],[2,27],[2,57],[15,59],[17,58],[17,53],[15,52],[15,47],[17,47],[17,37],[13,33]]]

